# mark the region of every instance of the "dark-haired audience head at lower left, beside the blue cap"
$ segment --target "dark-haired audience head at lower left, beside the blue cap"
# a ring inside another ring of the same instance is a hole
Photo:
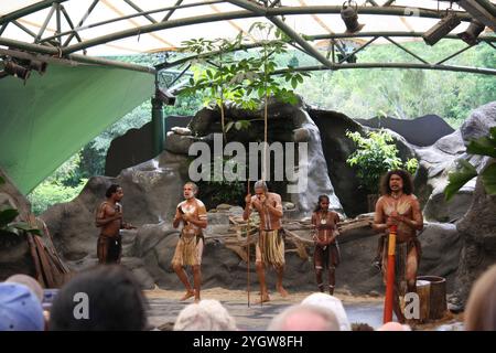
[[[141,331],[145,325],[140,286],[118,265],[78,274],[58,291],[51,310],[52,331]]]

